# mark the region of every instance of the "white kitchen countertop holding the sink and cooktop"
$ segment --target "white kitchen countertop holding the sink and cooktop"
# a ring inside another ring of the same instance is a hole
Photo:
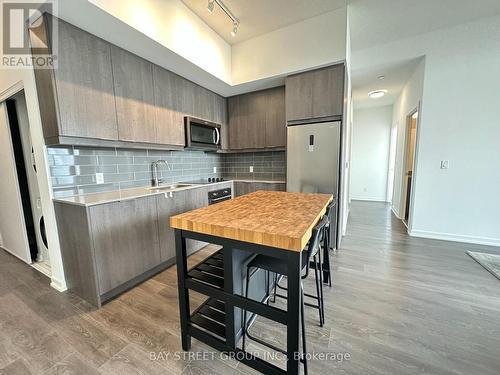
[[[220,184],[233,182],[233,181],[241,181],[241,182],[263,182],[263,183],[273,183],[273,184],[284,184],[285,181],[266,181],[266,180],[227,180],[220,182],[210,182],[206,184],[193,184],[186,187],[179,187],[177,189],[165,190],[165,189],[154,189],[149,186],[131,188],[131,189],[123,189],[123,190],[114,190],[103,193],[95,193],[95,194],[87,194],[87,195],[75,195],[72,197],[65,198],[54,198],[54,202],[59,203],[67,203],[78,206],[94,206],[98,204],[105,204],[111,202],[119,202],[128,199],[136,199],[141,197],[148,197],[153,195],[160,194],[175,194],[177,191],[189,190],[189,189],[197,189],[199,187],[204,187],[207,185],[214,186],[214,189],[217,189],[217,186]],[[179,182],[182,183],[182,182]],[[168,184],[167,184],[168,185]]]

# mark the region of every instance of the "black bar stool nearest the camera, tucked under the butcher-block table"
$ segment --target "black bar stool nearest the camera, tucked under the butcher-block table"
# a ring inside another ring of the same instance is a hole
[[[316,227],[314,227],[312,235],[311,235],[311,239],[310,239],[308,247],[307,247],[307,250],[302,252],[302,267],[303,267],[302,271],[305,271],[305,273],[304,273],[304,275],[301,276],[301,278],[302,278],[302,280],[304,280],[309,275],[309,262],[310,262],[311,258],[314,258],[315,278],[316,278],[316,293],[317,293],[316,296],[305,294],[304,293],[304,284],[301,283],[301,325],[302,325],[302,351],[303,351],[303,354],[302,354],[303,357],[301,359],[301,362],[304,364],[304,374],[307,374],[307,358],[306,358],[307,348],[306,348],[304,305],[312,306],[312,307],[315,307],[319,310],[320,325],[321,326],[323,325],[323,321],[324,321],[323,295],[322,295],[322,285],[321,285],[321,281],[320,281],[320,280],[322,280],[322,278],[321,278],[321,272],[319,272],[319,270],[321,269],[320,268],[321,267],[320,266],[321,259],[318,262],[316,257],[317,256],[319,257],[321,245],[324,243],[325,228],[326,228],[327,222],[328,222],[328,219],[325,215],[325,216],[323,216],[321,221],[316,225]],[[321,257],[319,257],[319,258],[321,258]],[[250,272],[252,269],[255,269],[255,271],[253,273]],[[269,299],[271,297],[270,288],[269,288],[270,287],[270,285],[269,285],[270,284],[269,283],[270,273],[274,273],[274,282],[275,282],[274,296],[278,296],[281,298],[287,298],[286,296],[276,294],[276,285],[278,283],[278,275],[286,275],[287,274],[286,262],[283,262],[280,259],[273,258],[273,257],[267,256],[267,255],[262,255],[262,254],[255,256],[247,265],[247,279],[246,279],[245,295],[244,296],[245,297],[248,296],[250,278],[259,269],[262,269],[262,270],[267,272],[267,275],[266,275],[266,277],[267,277],[267,279],[266,279],[267,280],[267,290],[266,290],[267,295],[266,295],[266,298],[264,299],[264,302],[269,303]],[[318,276],[318,273],[319,273],[319,276]],[[283,289],[286,289],[286,288],[283,288]],[[309,296],[309,297],[317,299],[318,304],[311,305],[311,304],[305,303],[304,296]],[[245,340],[246,340],[246,336],[248,336],[248,338],[253,340],[253,341],[256,341],[262,345],[265,345],[265,346],[267,346],[275,351],[286,354],[286,350],[278,348],[277,346],[270,344],[268,342],[265,342],[264,340],[262,340],[260,338],[254,337],[248,332],[248,327],[253,323],[253,321],[256,319],[256,317],[257,317],[256,314],[254,314],[254,316],[252,317],[252,320],[250,322],[248,322],[248,324],[247,324],[247,311],[243,310],[242,349],[245,350]],[[297,327],[297,329],[298,329],[298,327]]]

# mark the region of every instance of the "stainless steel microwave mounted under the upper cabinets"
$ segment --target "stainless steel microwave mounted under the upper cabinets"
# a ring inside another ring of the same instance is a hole
[[[220,148],[220,124],[184,117],[186,147],[197,150],[217,151]]]

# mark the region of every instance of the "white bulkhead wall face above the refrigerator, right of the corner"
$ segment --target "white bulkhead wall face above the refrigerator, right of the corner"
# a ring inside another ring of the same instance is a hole
[[[346,26],[342,8],[233,45],[233,84],[344,61]]]

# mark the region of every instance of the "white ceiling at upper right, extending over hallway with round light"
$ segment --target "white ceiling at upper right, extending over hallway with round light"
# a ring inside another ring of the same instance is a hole
[[[500,13],[499,0],[349,0],[348,4],[355,108],[393,104],[418,65],[419,53],[405,57],[394,47],[393,56],[380,56],[377,46]],[[425,46],[415,47],[425,51]],[[380,81],[380,75],[386,78]],[[368,92],[384,88],[385,97],[368,98]]]

